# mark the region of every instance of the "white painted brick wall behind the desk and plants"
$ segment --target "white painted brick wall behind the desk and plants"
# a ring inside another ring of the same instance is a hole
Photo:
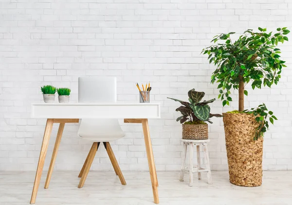
[[[0,2],[0,170],[35,170],[45,120],[30,119],[30,104],[42,99],[39,87],[72,88],[78,76],[117,76],[118,100],[138,102],[134,82],[152,83],[151,101],[162,119],[150,120],[157,170],[179,170],[181,125],[166,97],[186,99],[190,88],[217,96],[214,70],[201,49],[221,32],[292,24],[291,0],[1,0]],[[291,28],[290,28],[291,29]],[[292,43],[281,46],[288,68],[273,89],[248,88],[246,107],[266,102],[278,121],[265,135],[265,170],[292,170]],[[236,99],[236,97],[234,98]],[[212,112],[234,110],[213,103]],[[209,126],[213,170],[227,170],[222,119]],[[57,170],[80,170],[90,144],[66,125]],[[127,136],[112,145],[122,170],[147,170],[139,125],[123,125]],[[57,126],[54,125],[45,169]],[[92,169],[110,170],[102,148]]]

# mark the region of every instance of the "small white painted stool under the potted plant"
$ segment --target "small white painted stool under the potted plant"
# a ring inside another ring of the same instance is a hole
[[[181,139],[181,141],[183,142],[183,159],[182,159],[180,181],[181,182],[183,181],[184,172],[189,172],[189,175],[190,175],[189,186],[192,187],[193,186],[193,172],[198,172],[198,179],[201,179],[201,172],[207,171],[208,184],[212,184],[210,161],[209,161],[209,154],[208,154],[208,148],[207,148],[207,143],[210,141],[210,139],[201,139],[201,140]],[[197,146],[197,166],[193,166],[194,145]],[[201,168],[200,145],[203,146],[206,169]],[[189,168],[185,167],[185,157],[186,157],[187,146],[189,147],[189,153],[190,153],[190,159],[189,159],[190,167]]]

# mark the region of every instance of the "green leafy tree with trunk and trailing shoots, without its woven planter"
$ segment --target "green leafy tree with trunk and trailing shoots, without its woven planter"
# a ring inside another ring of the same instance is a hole
[[[244,86],[251,83],[252,88],[261,89],[262,86],[271,87],[278,83],[281,78],[282,68],[286,67],[285,61],[280,59],[280,49],[276,48],[279,42],[288,41],[287,34],[290,31],[284,28],[277,28],[276,33],[267,33],[267,29],[258,27],[259,32],[251,29],[246,30],[236,41],[232,41],[231,35],[219,34],[211,42],[214,45],[202,50],[208,55],[209,63],[213,63],[217,68],[211,76],[211,83],[219,83],[218,98],[222,100],[223,106],[229,105],[232,101],[230,96],[231,88],[238,90],[238,112],[249,112],[255,114],[256,121],[260,122],[256,139],[263,136],[268,129],[267,115],[271,115],[269,120],[274,124],[277,120],[267,111],[264,104],[253,108],[252,111],[244,110],[244,95],[248,95]],[[260,113],[258,113],[260,112]]]

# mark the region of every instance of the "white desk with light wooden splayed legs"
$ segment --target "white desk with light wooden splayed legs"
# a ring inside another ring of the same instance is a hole
[[[49,187],[59,143],[62,137],[65,123],[78,123],[79,119],[124,119],[125,123],[142,123],[146,153],[148,158],[150,179],[154,203],[159,204],[158,181],[150,139],[148,119],[160,118],[159,103],[130,103],[130,104],[93,104],[93,103],[35,103],[32,104],[32,118],[47,119],[44,137],[39,154],[37,173],[31,197],[31,204],[35,204],[37,190],[48,150],[53,123],[60,123],[55,147],[49,167],[45,188]]]

